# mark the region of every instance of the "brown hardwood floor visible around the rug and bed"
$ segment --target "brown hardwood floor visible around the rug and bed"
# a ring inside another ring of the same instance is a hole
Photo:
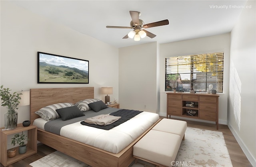
[[[248,161],[247,157],[245,156],[244,152],[242,151],[241,147],[238,145],[236,139],[234,138],[233,134],[229,130],[227,125],[219,124],[219,130],[216,130],[215,124],[209,124],[204,122],[196,122],[196,121],[189,121],[186,120],[189,127],[193,128],[201,128],[206,130],[213,130],[213,131],[220,131],[224,135],[224,139],[226,142],[226,146],[228,148],[228,152],[230,154],[230,158],[232,161],[233,167],[252,167],[250,162]],[[31,155],[25,159],[22,159],[8,167],[31,167],[29,164],[54,152],[55,149],[48,147],[46,145],[38,145],[38,151],[36,154]],[[4,167],[2,164],[0,167]]]

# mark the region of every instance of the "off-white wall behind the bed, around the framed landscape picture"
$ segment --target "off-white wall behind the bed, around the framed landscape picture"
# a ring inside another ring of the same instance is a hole
[[[0,85],[12,91],[30,88],[113,86],[110,100],[118,99],[118,48],[1,1]],[[89,60],[89,84],[37,84],[37,51]],[[0,107],[0,127],[4,113]],[[18,123],[30,120],[29,106],[19,106]]]

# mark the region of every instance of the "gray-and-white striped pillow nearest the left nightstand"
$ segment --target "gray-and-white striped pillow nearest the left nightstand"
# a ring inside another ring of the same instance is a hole
[[[59,108],[66,108],[73,106],[72,103],[57,103],[51,104],[49,106],[43,107],[40,110],[36,111],[35,113],[38,114],[41,118],[46,121],[55,120],[60,118],[60,115],[56,112],[56,109]]]

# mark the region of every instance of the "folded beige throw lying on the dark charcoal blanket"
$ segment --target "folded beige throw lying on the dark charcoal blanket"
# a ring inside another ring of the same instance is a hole
[[[113,122],[116,122],[120,118],[121,118],[120,116],[112,116],[109,114],[102,114],[102,115],[94,116],[92,118],[87,118],[86,120],[84,120],[84,122],[86,122],[88,124],[106,126],[106,125],[112,124]]]

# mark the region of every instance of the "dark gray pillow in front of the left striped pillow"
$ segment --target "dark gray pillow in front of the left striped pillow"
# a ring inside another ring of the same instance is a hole
[[[72,118],[84,116],[77,106],[71,106],[66,108],[57,109],[56,112],[61,116],[61,119],[66,121]]]

